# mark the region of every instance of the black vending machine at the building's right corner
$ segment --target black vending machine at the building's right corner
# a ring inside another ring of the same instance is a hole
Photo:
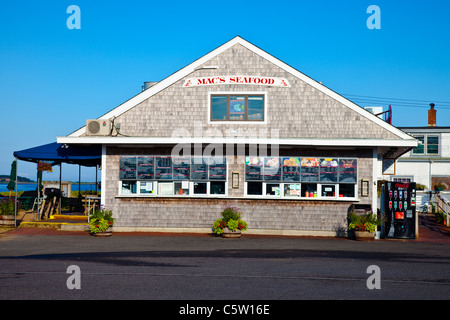
[[[416,238],[416,183],[385,182],[384,185],[385,237]]]

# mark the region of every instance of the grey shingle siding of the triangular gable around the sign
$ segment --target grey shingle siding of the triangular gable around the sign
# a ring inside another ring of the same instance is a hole
[[[184,128],[193,135],[195,122],[204,133],[208,129],[218,129],[223,136],[230,129],[250,132],[265,128],[269,134],[271,130],[279,130],[279,136],[286,138],[398,138],[239,44],[205,65],[217,65],[218,69],[197,70],[117,117],[115,122],[120,123],[121,133],[171,137],[175,129]],[[214,85],[182,88],[189,77],[218,75],[284,77],[291,87]],[[208,93],[220,91],[267,92],[267,124],[209,124]]]

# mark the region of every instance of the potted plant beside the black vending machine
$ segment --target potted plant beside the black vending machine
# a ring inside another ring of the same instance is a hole
[[[349,237],[356,240],[374,239],[375,231],[381,220],[372,212],[356,214],[351,211],[348,215]]]

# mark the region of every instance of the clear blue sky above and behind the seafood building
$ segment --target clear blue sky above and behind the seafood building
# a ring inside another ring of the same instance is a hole
[[[381,29],[367,28],[370,5]],[[361,106],[391,104],[396,126],[426,126],[430,102],[450,126],[449,14],[445,0],[2,1],[0,174],[14,151],[70,134],[236,35]],[[20,161],[19,175],[35,168]],[[78,167],[63,165],[63,180]]]

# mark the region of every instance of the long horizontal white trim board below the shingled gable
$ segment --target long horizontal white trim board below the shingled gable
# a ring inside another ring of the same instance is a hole
[[[236,123],[236,122],[234,122]],[[347,147],[416,147],[416,139],[319,139],[319,138],[241,138],[241,137],[57,137],[58,143],[68,144],[267,144],[298,146]]]

